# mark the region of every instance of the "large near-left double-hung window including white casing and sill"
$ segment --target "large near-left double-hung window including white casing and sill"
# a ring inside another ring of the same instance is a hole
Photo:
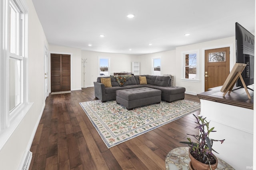
[[[24,0],[4,0],[1,3],[0,41],[2,47],[0,67],[0,149],[10,137],[32,103],[28,103],[27,85],[27,13]]]

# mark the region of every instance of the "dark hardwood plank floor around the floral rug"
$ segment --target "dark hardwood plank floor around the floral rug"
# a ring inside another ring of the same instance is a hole
[[[200,102],[197,96],[185,99]],[[90,100],[97,100],[93,87],[46,98],[30,170],[164,170],[168,152],[186,146],[179,143],[186,133],[198,134],[190,114],[108,149],[79,105]]]

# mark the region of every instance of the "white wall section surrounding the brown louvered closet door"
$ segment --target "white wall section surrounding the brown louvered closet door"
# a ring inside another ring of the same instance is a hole
[[[81,49],[50,45],[49,53],[70,54],[71,55],[71,90],[81,90]],[[50,55],[49,55],[50,72]],[[50,76],[50,74],[49,74]],[[50,90],[50,84],[49,84]]]

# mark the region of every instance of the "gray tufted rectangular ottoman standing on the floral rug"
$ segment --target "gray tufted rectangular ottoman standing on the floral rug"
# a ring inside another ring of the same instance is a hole
[[[122,104],[128,110],[160,102],[161,90],[148,87],[116,90],[116,103]]]

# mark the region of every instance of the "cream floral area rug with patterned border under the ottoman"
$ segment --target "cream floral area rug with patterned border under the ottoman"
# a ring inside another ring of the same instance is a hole
[[[200,103],[177,100],[128,111],[115,100],[80,103],[108,148],[128,141],[200,109]]]

